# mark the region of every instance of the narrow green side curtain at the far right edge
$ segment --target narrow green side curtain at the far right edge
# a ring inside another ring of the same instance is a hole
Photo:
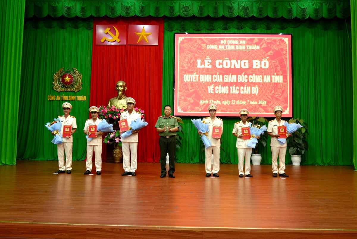
[[[352,29],[352,91],[353,91],[353,163],[357,171],[357,3],[351,0],[351,29]]]

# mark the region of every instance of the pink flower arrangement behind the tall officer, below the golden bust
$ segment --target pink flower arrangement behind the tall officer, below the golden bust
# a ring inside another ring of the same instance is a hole
[[[145,111],[141,108],[135,107],[134,110],[141,114],[141,120],[145,121]],[[102,120],[106,120],[108,123],[112,123],[113,125],[117,125],[120,120],[121,113],[124,110],[117,109],[116,106],[106,107],[106,106],[99,106],[99,118]],[[121,140],[120,140],[120,131],[115,130],[112,133],[108,133],[104,138],[104,143],[113,144],[115,143],[115,147],[121,147]]]

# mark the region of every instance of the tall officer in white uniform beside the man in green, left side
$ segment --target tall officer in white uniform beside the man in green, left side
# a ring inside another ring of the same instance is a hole
[[[129,127],[132,121],[136,121],[137,119],[141,118],[140,113],[134,110],[135,107],[135,100],[131,97],[126,99],[126,111],[122,112],[120,115],[120,120],[126,119]],[[122,176],[132,175],[136,176],[136,169],[137,169],[137,142],[138,142],[138,132],[133,130],[133,133],[125,138],[121,139],[122,149],[123,149],[123,168],[124,173]],[[131,162],[130,162],[131,156]]]

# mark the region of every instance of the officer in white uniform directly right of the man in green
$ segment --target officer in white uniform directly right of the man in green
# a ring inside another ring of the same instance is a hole
[[[214,177],[219,177],[218,172],[220,171],[220,151],[221,151],[221,138],[212,138],[212,129],[213,126],[218,126],[222,128],[223,133],[223,120],[221,118],[216,117],[217,106],[209,105],[208,112],[210,112],[210,116],[203,118],[202,122],[209,125],[209,132],[207,138],[211,141],[211,147],[205,148],[206,153],[206,177],[211,177],[211,173],[213,173]],[[201,134],[200,131],[198,131]],[[213,170],[211,170],[211,157],[213,152]]]

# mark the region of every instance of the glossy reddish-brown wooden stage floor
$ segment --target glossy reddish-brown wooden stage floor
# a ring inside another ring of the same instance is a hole
[[[291,166],[273,178],[270,165],[239,178],[221,164],[176,164],[160,178],[159,163],[122,164],[103,174],[52,174],[57,161],[0,167],[0,237],[23,238],[357,238],[357,172],[344,166]],[[93,171],[94,172],[94,171]]]

